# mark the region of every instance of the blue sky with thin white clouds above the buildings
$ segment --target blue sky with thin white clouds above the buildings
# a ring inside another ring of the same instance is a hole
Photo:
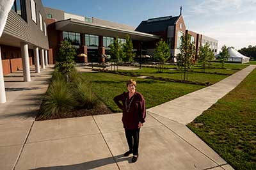
[[[186,29],[236,49],[256,45],[255,0],[42,0],[44,6],[137,27],[142,20],[177,16],[182,6]]]

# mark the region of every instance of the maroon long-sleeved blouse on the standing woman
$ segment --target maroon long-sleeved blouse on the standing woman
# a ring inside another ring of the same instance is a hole
[[[146,118],[145,100],[141,93],[129,98],[129,92],[124,92],[114,98],[115,103],[123,111],[122,122],[125,129],[133,130],[139,128],[139,122],[144,123]],[[122,101],[122,104],[120,104]]]

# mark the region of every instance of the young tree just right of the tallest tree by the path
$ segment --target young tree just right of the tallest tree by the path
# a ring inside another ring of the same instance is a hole
[[[208,64],[208,61],[214,59],[214,53],[210,49],[208,44],[200,47],[198,61],[202,65],[202,70],[205,72],[205,65]]]

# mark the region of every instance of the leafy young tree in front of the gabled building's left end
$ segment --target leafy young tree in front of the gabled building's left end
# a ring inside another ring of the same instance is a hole
[[[156,50],[154,51],[154,57],[160,62],[158,72],[163,72],[164,62],[170,58],[170,47],[162,39],[157,42]]]

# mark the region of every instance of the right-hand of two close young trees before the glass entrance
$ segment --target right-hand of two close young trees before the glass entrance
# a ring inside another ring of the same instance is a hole
[[[132,40],[129,35],[125,36],[123,52],[124,52],[124,61],[132,62],[135,54],[133,52]]]

